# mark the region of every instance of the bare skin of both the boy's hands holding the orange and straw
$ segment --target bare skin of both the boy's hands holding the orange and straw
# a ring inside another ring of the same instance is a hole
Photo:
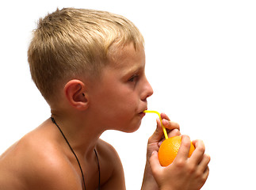
[[[171,122],[166,114],[161,114],[162,124],[169,129],[168,136],[181,135],[179,125]],[[188,158],[190,139],[182,135],[181,147],[174,162],[166,167],[159,163],[157,150],[164,140],[160,120],[157,120],[157,128],[147,143],[147,162],[143,178],[142,189],[154,190],[197,190],[201,189],[208,178],[208,163],[210,157],[204,154],[204,142],[193,141],[195,150]]]

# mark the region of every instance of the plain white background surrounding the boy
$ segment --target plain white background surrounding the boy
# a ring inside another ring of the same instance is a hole
[[[191,139],[203,139],[211,155],[202,189],[256,189],[256,5],[247,0],[4,2],[0,154],[50,116],[30,78],[26,51],[38,18],[67,6],[119,13],[138,26],[155,90],[148,108],[166,112]],[[102,135],[120,154],[128,190],[140,189],[155,118],[148,114],[132,134]]]

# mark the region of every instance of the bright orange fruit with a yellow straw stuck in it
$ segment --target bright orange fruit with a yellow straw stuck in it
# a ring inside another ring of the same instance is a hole
[[[159,161],[162,166],[170,165],[174,158],[178,154],[178,150],[181,146],[181,136],[174,136],[170,137],[168,139],[165,139],[161,146],[159,147]],[[190,145],[189,155],[191,156],[193,153],[193,150],[195,150],[195,146],[193,146],[192,142]]]

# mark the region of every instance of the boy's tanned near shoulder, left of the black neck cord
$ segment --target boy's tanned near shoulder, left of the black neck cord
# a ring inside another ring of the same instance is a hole
[[[0,157],[0,189],[82,189],[80,181],[58,147],[34,133]]]

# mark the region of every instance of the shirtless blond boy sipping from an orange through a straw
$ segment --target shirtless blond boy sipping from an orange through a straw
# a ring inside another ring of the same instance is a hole
[[[131,21],[89,9],[57,9],[40,19],[29,46],[32,79],[52,116],[0,157],[0,189],[125,189],[109,129],[139,128],[153,93],[144,73],[143,36]],[[179,126],[162,114],[170,136]],[[159,120],[148,141],[142,189],[200,189],[210,158],[197,140],[182,136],[174,163],[159,165]]]

